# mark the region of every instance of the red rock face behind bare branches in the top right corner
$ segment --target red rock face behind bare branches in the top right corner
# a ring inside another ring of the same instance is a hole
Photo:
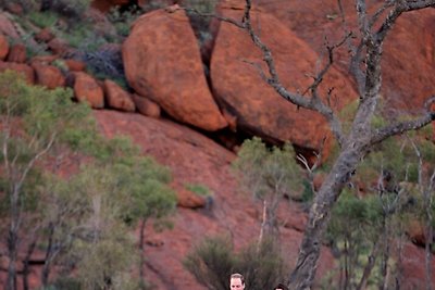
[[[344,28],[337,1],[256,0],[262,9],[272,13],[318,52],[325,51],[324,37],[339,39]],[[348,30],[358,33],[355,1],[341,1]],[[366,1],[371,13],[382,1]],[[415,110],[433,94],[435,84],[435,10],[425,9],[405,13],[388,34],[383,53],[382,94],[398,109]],[[337,51],[336,64],[347,74],[349,66],[347,47]]]

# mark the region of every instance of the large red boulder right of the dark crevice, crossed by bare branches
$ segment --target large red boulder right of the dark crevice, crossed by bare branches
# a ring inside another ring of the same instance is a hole
[[[224,2],[221,13],[241,18],[244,1],[238,2]],[[321,56],[271,14],[253,9],[251,17],[254,29],[272,50],[283,86],[294,92],[306,91],[313,81],[308,75],[322,67]],[[279,97],[261,78],[258,65],[268,72],[262,59],[246,31],[221,23],[211,60],[211,80],[219,102],[236,116],[237,127],[241,130],[270,141],[289,140],[304,149],[319,149],[323,138],[331,135],[325,119]],[[334,67],[320,87],[323,97],[331,87],[334,88],[331,103],[336,110],[356,98],[349,81]]]

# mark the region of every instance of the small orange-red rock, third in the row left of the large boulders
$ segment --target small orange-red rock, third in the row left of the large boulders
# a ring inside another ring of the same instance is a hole
[[[79,102],[88,102],[94,109],[104,106],[104,93],[96,79],[86,73],[74,73],[74,94]]]

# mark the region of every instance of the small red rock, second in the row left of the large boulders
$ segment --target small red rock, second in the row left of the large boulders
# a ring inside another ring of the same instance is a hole
[[[104,80],[105,100],[110,108],[126,112],[135,112],[135,103],[128,92],[123,90],[116,83]]]

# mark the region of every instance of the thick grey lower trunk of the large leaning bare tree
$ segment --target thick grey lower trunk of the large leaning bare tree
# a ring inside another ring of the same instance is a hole
[[[290,289],[310,289],[314,280],[322,237],[326,229],[333,205],[343,188],[364,155],[364,143],[358,140],[348,144],[339,154],[310,209],[299,256],[289,277]]]

